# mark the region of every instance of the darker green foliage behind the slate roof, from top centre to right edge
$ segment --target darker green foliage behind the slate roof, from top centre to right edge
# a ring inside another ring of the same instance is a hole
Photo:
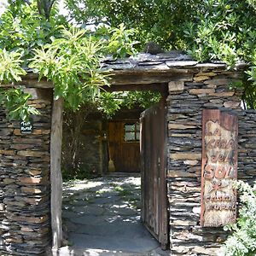
[[[74,20],[82,26],[125,23],[135,29],[134,40],[161,44],[164,49],[185,49],[198,61],[255,61],[255,0],[66,0]],[[255,69],[253,67],[253,69]],[[252,76],[244,80],[244,98],[255,108]]]

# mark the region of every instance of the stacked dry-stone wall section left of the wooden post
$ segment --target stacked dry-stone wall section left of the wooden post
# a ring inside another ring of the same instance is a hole
[[[20,133],[0,108],[0,253],[41,255],[50,246],[50,89],[33,90],[32,134]]]

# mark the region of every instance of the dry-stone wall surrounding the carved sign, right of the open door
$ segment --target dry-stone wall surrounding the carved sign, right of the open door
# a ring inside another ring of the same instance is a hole
[[[192,71],[193,72],[193,71]],[[239,115],[238,178],[253,181],[256,175],[256,113],[241,111],[240,92],[230,82],[240,73],[204,67],[192,79],[169,83],[168,199],[172,255],[216,255],[227,234],[223,228],[202,228],[201,212],[201,113],[219,108]]]

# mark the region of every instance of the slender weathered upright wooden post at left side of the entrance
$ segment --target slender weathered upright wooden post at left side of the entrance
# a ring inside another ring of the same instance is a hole
[[[62,140],[63,99],[53,102],[50,134],[50,211],[53,253],[61,247],[62,223],[62,176],[61,176],[61,140]]]

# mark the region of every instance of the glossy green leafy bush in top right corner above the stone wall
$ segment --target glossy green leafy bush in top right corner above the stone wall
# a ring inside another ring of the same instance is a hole
[[[187,22],[184,35],[187,49],[200,61],[222,60],[234,66],[250,61],[256,43],[254,9],[245,1],[205,1],[205,11],[197,22]]]

